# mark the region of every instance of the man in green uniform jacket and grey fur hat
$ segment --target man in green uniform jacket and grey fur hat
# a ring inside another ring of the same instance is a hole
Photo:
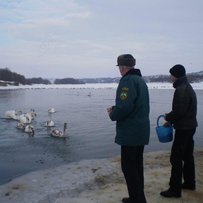
[[[149,92],[135,59],[130,54],[120,55],[117,66],[120,79],[115,106],[107,109],[116,121],[115,142],[121,145],[121,168],[129,197],[123,203],[146,203],[144,194],[143,152],[149,143]]]

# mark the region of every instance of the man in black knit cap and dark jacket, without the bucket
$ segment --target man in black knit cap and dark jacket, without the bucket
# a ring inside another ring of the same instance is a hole
[[[163,197],[181,197],[182,189],[195,190],[193,135],[197,127],[197,99],[185,75],[184,66],[175,65],[169,72],[175,92],[172,111],[166,114],[165,119],[173,124],[175,136],[170,157],[172,165],[170,187],[160,194]]]

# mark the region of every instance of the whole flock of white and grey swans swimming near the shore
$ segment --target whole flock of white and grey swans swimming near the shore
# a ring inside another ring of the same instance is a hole
[[[49,115],[55,112],[56,110],[54,108],[48,109]],[[19,121],[16,125],[18,129],[21,129],[24,132],[31,134],[32,136],[35,133],[35,129],[31,123],[32,123],[32,120],[35,118],[35,116],[36,116],[36,113],[34,109],[31,109],[31,111],[28,113],[22,113],[21,111],[16,111],[16,110],[10,110],[5,112],[6,118]],[[45,122],[45,126],[54,127],[55,123],[53,120],[49,119],[48,121]],[[50,135],[53,137],[64,138],[66,137],[66,130],[67,130],[67,123],[64,123],[63,130],[52,129],[50,131]]]

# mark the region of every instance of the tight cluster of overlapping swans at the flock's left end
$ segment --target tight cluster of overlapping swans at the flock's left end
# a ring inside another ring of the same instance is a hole
[[[8,119],[14,119],[19,121],[16,125],[18,129],[24,130],[24,132],[34,135],[34,127],[31,124],[32,120],[37,114],[34,109],[31,109],[28,113],[23,113],[21,111],[10,110],[5,112],[5,116]]]

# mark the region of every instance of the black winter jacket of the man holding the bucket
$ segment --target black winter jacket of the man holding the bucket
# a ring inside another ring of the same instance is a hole
[[[166,114],[166,120],[171,121],[175,129],[187,130],[197,127],[197,98],[187,77],[178,78],[174,84],[172,111]]]

